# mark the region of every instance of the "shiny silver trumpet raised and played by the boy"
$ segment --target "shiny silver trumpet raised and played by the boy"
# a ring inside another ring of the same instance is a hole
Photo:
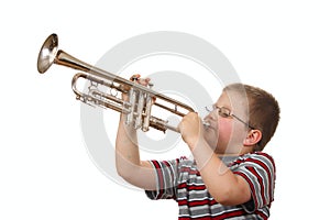
[[[136,79],[128,80],[118,75],[111,74],[96,66],[81,62],[74,56],[58,50],[58,37],[51,34],[43,43],[37,56],[37,70],[44,74],[53,64],[70,67],[82,73],[76,74],[72,79],[72,89],[76,99],[91,106],[112,109],[125,114],[125,123],[132,124],[134,129],[141,129],[143,132],[150,130],[150,127],[165,132],[167,129],[179,132],[177,127],[168,124],[167,120],[152,116],[152,107],[157,106],[178,117],[185,117],[188,112],[195,110],[170,97],[164,96],[152,89],[153,84],[142,86]],[[90,87],[88,91],[79,91],[77,81],[88,80]],[[98,85],[108,89],[114,89],[116,92],[106,92],[98,89]],[[118,97],[118,94],[127,94],[128,101]],[[209,124],[204,122],[206,127]]]

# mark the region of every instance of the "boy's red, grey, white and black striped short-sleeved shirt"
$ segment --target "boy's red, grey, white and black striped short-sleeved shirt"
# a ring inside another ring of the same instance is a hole
[[[173,161],[151,161],[157,178],[157,189],[146,195],[151,199],[174,199],[179,220],[188,219],[267,219],[274,200],[275,164],[265,153],[221,158],[230,169],[250,186],[251,200],[239,206],[222,206],[206,188],[196,163],[186,157]],[[220,186],[221,187],[221,186]]]

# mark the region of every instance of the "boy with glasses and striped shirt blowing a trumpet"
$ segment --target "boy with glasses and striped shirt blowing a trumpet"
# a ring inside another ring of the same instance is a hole
[[[178,125],[194,161],[141,161],[136,131],[122,114],[116,142],[119,175],[151,199],[176,200],[178,219],[267,219],[275,164],[261,151],[279,121],[277,101],[260,88],[233,84],[208,110],[209,127],[195,112]]]

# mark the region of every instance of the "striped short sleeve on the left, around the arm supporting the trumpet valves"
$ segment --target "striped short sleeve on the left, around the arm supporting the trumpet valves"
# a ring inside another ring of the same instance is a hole
[[[157,188],[156,190],[145,190],[150,199],[175,199],[179,158],[173,161],[150,161],[154,167]]]

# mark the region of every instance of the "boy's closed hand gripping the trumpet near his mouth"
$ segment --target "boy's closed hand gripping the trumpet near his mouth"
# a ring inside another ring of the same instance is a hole
[[[204,128],[201,119],[196,112],[189,112],[185,116],[178,125],[183,140],[193,150],[198,141],[204,139]]]

